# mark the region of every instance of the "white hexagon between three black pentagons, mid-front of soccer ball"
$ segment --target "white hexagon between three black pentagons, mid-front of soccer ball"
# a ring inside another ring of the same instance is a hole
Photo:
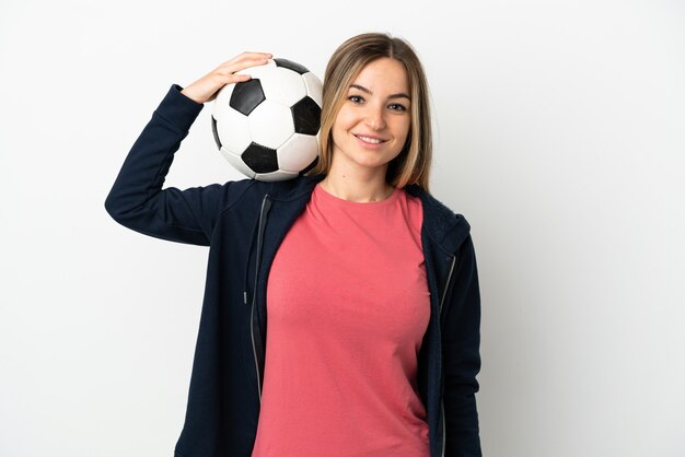
[[[295,131],[290,108],[265,99],[249,114],[252,141],[263,147],[277,149]]]

